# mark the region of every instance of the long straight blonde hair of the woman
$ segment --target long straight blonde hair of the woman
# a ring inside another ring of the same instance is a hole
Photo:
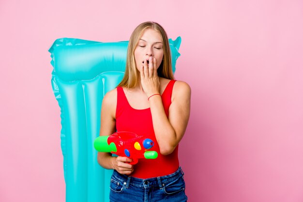
[[[127,58],[126,58],[126,68],[125,74],[121,82],[118,86],[126,87],[126,88],[134,88],[137,85],[139,71],[136,69],[136,61],[135,61],[135,49],[142,36],[143,32],[147,29],[152,29],[158,31],[163,40],[163,60],[157,69],[157,74],[159,77],[174,79],[174,75],[172,72],[171,66],[171,56],[170,56],[170,48],[167,38],[167,33],[163,29],[161,25],[156,22],[147,21],[143,22],[136,27],[133,31],[127,47]]]

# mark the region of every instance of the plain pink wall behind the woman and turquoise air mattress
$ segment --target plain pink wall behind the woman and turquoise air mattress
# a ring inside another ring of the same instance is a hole
[[[182,37],[189,201],[302,202],[301,0],[1,0],[0,202],[65,201],[54,40],[128,40],[147,20]]]

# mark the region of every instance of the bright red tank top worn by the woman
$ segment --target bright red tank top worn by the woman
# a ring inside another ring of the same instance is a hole
[[[170,80],[162,93],[162,103],[168,118],[168,109],[171,104],[171,93],[175,80]],[[132,108],[121,87],[117,87],[117,109],[116,109],[116,128],[117,131],[134,132],[139,136],[152,139],[154,146],[151,151],[158,152],[156,159],[140,158],[139,162],[134,165],[134,172],[131,176],[137,178],[152,178],[171,174],[178,170],[178,146],[170,155],[161,155],[159,145],[156,141],[155,133],[152,126],[151,109],[134,109]]]

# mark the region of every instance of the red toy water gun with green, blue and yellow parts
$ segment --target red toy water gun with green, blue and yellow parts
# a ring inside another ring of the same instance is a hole
[[[116,132],[110,136],[99,136],[94,140],[94,147],[98,152],[110,152],[119,156],[133,159],[134,165],[139,158],[155,159],[158,153],[149,151],[154,145],[153,141],[132,132]]]

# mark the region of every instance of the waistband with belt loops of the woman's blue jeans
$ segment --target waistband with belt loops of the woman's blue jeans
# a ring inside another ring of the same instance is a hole
[[[139,186],[139,187],[151,187],[151,186],[159,186],[162,188],[164,184],[182,177],[184,175],[181,167],[179,169],[171,174],[161,176],[161,177],[153,177],[153,178],[147,178],[147,179],[141,179],[141,178],[136,178],[128,175],[122,175],[118,171],[114,170],[113,176],[118,178],[120,181],[122,181],[125,185],[126,188],[131,184],[133,186]]]

